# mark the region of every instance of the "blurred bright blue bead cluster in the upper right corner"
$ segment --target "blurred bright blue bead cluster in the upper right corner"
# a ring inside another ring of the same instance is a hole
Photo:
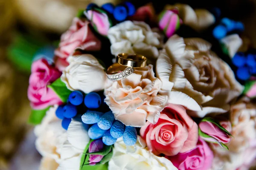
[[[240,21],[222,18],[221,23],[213,29],[212,34],[216,39],[220,40],[231,31],[244,31],[244,24]]]

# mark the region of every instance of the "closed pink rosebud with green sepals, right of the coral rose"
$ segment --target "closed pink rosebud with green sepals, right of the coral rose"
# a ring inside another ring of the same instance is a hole
[[[226,126],[226,124],[224,124],[223,122],[222,124]],[[216,122],[214,119],[209,117],[204,118],[199,123],[199,135],[205,141],[218,143],[223,147],[226,147],[224,144],[230,142],[231,136],[229,131],[226,130],[223,126],[221,126],[220,123]]]

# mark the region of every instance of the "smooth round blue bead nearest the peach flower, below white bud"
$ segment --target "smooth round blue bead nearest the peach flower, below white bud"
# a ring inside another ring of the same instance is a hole
[[[101,98],[99,94],[90,92],[84,97],[84,105],[89,109],[97,109],[101,105]]]

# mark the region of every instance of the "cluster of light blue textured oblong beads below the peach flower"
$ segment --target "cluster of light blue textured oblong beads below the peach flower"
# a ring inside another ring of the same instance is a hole
[[[134,145],[137,141],[135,127],[125,126],[122,122],[115,120],[112,111],[102,113],[98,111],[87,111],[81,116],[85,124],[92,125],[88,130],[91,139],[100,139],[106,145],[112,145],[123,136],[126,145]]]

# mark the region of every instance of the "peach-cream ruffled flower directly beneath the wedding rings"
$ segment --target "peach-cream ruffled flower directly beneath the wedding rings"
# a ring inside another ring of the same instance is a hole
[[[162,82],[154,77],[153,66],[137,68],[125,79],[108,81],[105,102],[115,118],[127,126],[141,127],[146,120],[156,123],[166,106],[167,96],[159,95]]]

